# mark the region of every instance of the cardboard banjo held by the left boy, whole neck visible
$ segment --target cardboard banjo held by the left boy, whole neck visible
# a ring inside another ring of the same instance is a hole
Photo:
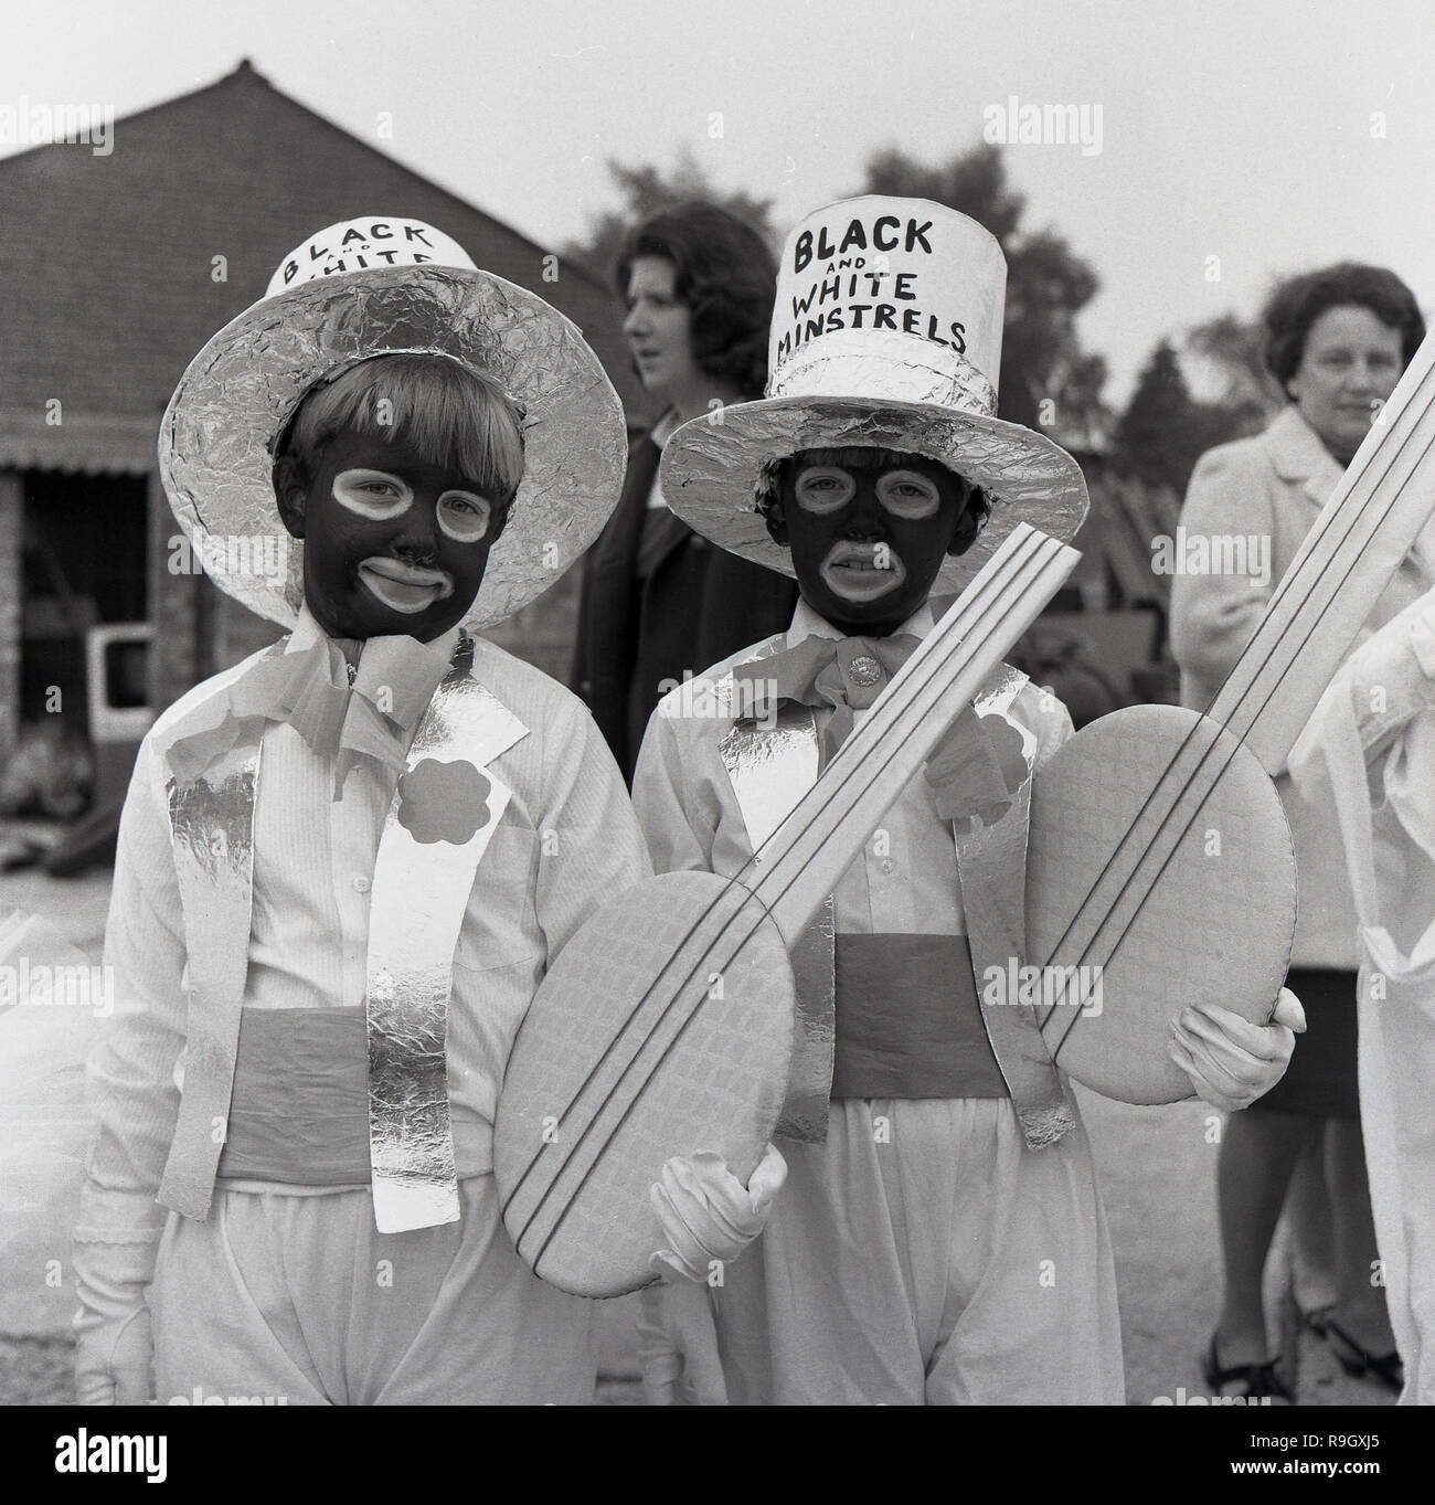
[[[669,1156],[714,1150],[752,1174],[787,1087],[788,947],[1075,560],[1017,527],[736,879],[650,879],[560,953],[493,1145],[504,1225],[543,1279],[581,1296],[650,1284],[648,1187]]]

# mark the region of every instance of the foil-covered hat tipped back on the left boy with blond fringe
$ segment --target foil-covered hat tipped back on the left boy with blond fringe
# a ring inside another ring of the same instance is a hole
[[[191,548],[221,590],[271,622],[293,626],[304,599],[304,548],[274,500],[275,444],[316,385],[400,354],[481,372],[523,411],[523,480],[465,626],[542,594],[617,506],[623,408],[575,324],[418,220],[329,226],[194,357],[159,427],[159,476]],[[280,546],[253,548],[266,540]]]

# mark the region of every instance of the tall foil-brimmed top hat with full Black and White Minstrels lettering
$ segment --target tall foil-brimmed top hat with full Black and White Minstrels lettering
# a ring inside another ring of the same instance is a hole
[[[684,423],[663,448],[668,506],[730,554],[793,573],[758,501],[808,448],[904,450],[981,486],[991,516],[948,555],[933,594],[960,591],[1027,522],[1068,542],[1086,518],[1077,462],[996,417],[1006,259],[975,220],[925,199],[844,199],[787,238],[767,396]]]

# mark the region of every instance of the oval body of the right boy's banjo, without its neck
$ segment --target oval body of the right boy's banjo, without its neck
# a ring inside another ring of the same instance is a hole
[[[1048,974],[1038,1004],[1056,1064],[1128,1103],[1190,1097],[1169,1022],[1208,1002],[1268,1023],[1286,975],[1295,856],[1276,786],[1199,712],[1103,716],[1032,783],[1026,911],[1027,960],[1077,969],[1065,990]]]

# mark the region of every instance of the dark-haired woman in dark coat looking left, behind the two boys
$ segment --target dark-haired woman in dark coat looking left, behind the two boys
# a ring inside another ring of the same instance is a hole
[[[657,462],[689,418],[763,394],[776,266],[761,238],[708,203],[633,230],[614,277],[623,333],[666,405],[629,451],[623,500],[584,566],[572,683],[632,783],[662,694],[793,617],[791,581],[711,548],[663,501]]]

